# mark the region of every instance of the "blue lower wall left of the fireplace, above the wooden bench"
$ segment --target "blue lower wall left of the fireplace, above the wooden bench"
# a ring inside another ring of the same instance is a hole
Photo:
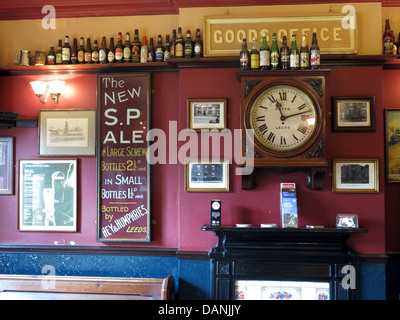
[[[177,256],[0,252],[2,274],[48,274],[47,266],[54,267],[56,275],[60,276],[165,278],[172,275],[178,299],[207,300],[211,297],[208,260],[181,260]]]

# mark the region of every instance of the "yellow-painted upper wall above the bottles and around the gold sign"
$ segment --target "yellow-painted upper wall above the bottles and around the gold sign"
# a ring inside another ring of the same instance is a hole
[[[251,6],[251,7],[213,7],[180,9],[179,15],[157,16],[127,16],[127,17],[92,17],[56,19],[56,29],[43,29],[42,20],[11,20],[0,21],[0,65],[14,64],[16,50],[28,49],[32,54],[36,50],[48,52],[50,45],[57,45],[58,39],[64,41],[68,35],[73,38],[90,37],[101,42],[101,37],[116,40],[117,33],[130,32],[133,37],[134,29],[139,29],[139,37],[145,35],[156,38],[161,34],[172,33],[178,26],[185,32],[187,29],[194,34],[195,29],[204,28],[204,17],[207,16],[312,16],[341,13],[345,4],[319,5],[286,5],[286,6]],[[357,3],[354,5],[357,13],[358,54],[381,54],[383,23],[386,17],[393,20],[392,28],[400,31],[400,8],[382,8],[380,3]]]

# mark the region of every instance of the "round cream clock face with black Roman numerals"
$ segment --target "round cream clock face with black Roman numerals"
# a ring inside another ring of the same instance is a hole
[[[316,132],[317,109],[297,87],[276,85],[262,91],[250,108],[250,127],[263,147],[285,153],[301,148]]]

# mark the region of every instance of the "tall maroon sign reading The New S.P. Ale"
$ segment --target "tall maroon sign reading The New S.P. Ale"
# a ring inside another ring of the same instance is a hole
[[[150,242],[150,74],[98,76],[97,240]]]

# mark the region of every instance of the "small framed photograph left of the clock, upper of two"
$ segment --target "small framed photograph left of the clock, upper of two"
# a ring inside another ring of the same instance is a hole
[[[188,99],[188,128],[223,130],[227,127],[227,99]]]

